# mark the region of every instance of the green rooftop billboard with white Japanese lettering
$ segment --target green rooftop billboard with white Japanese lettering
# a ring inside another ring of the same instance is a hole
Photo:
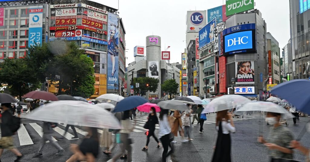
[[[254,0],[226,0],[226,16],[254,9]]]

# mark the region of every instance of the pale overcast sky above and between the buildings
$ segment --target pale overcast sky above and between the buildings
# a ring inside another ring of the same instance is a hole
[[[106,6],[119,9],[126,30],[126,66],[134,61],[133,48],[145,46],[145,37],[158,35],[162,38],[162,51],[170,47],[170,63],[181,62],[181,52],[186,48],[186,11],[208,10],[223,5],[222,0],[117,0],[103,1]],[[290,39],[289,1],[254,0],[270,32],[279,42],[280,52]]]

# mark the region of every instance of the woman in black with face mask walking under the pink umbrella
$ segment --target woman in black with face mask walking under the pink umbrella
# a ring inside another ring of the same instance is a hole
[[[155,107],[151,107],[150,108],[150,114],[148,115],[148,121],[145,123],[148,126],[148,135],[147,135],[147,139],[146,139],[146,145],[143,147],[142,151],[147,151],[148,150],[148,143],[150,142],[150,137],[153,136],[153,138],[155,139],[155,141],[157,142],[157,146],[156,148],[160,147],[160,143],[157,139],[157,137],[155,136],[155,125],[158,124],[158,118],[156,115],[156,110]]]

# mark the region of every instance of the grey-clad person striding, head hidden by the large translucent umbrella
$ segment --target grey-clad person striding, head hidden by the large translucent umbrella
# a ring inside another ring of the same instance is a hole
[[[58,152],[55,155],[62,155],[64,153],[64,149],[60,147],[60,145],[57,142],[52,140],[52,134],[53,134],[52,123],[43,122],[43,136],[41,145],[39,151],[33,157],[43,156],[42,149],[46,141],[50,141],[50,143],[58,150]]]

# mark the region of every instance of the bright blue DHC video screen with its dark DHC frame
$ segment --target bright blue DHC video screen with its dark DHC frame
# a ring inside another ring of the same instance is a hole
[[[223,35],[224,55],[256,52],[255,23],[229,27]]]

